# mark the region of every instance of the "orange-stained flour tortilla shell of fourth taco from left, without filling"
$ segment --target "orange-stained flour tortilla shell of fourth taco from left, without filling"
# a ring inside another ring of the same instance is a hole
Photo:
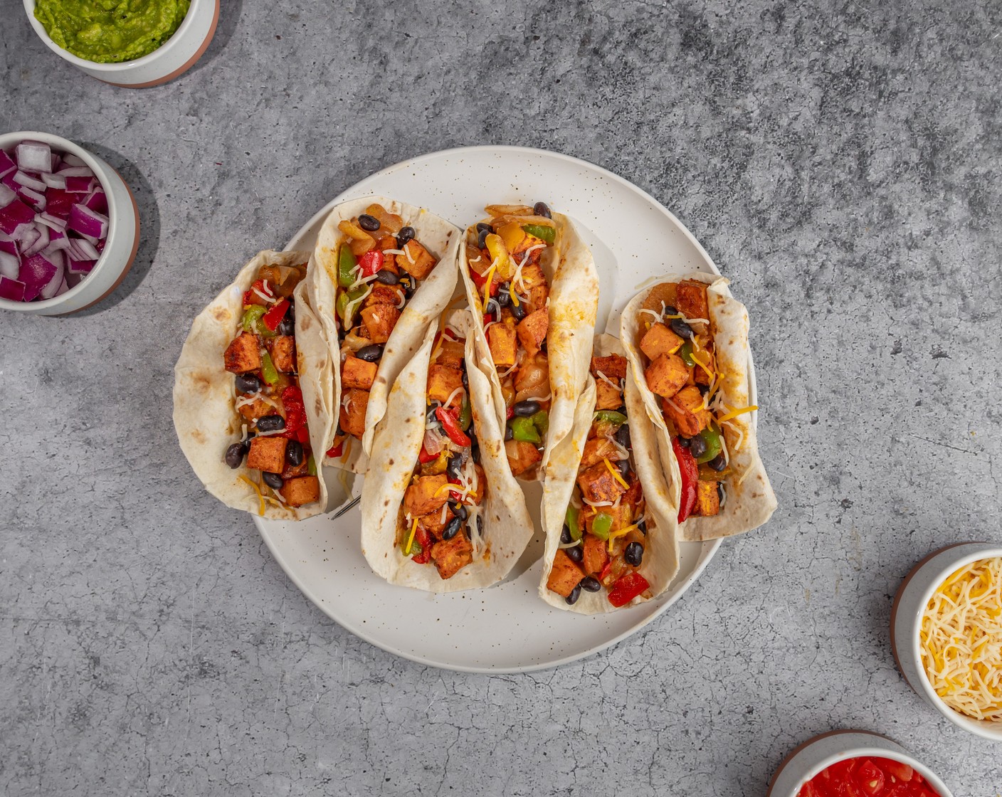
[[[484,220],[490,222],[490,219]],[[550,324],[547,331],[546,351],[550,366],[550,389],[553,392],[549,411],[549,430],[543,460],[537,471],[541,478],[550,452],[570,432],[574,424],[574,408],[588,378],[592,337],[595,334],[595,316],[598,313],[598,272],[591,257],[591,250],[581,241],[570,220],[553,214],[556,239],[547,247],[540,266],[550,286]],[[464,236],[465,238],[465,236]],[[469,306],[481,307],[469,272],[466,247],[459,247],[459,272],[466,287]],[[484,373],[490,380],[494,394],[494,407],[498,425],[504,428],[505,403],[501,395],[501,380],[494,368],[484,334],[483,316],[475,315],[474,331],[479,348],[479,360],[486,360]]]

